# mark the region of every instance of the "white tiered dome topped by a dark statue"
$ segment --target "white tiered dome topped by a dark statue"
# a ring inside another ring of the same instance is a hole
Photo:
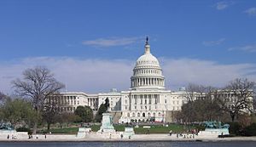
[[[145,53],[137,59],[131,76],[131,89],[163,89],[165,88],[165,77],[158,59],[150,53],[148,37],[145,44]]]

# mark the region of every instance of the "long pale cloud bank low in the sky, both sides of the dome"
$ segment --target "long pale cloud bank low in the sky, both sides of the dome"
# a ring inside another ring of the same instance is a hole
[[[189,82],[222,87],[236,77],[256,81],[256,65],[222,65],[201,59],[160,59],[166,88],[175,90]],[[67,91],[103,93],[111,88],[128,90],[135,60],[75,59],[68,57],[26,58],[0,64],[0,91],[12,93],[10,82],[22,71],[44,65],[55,73],[58,81],[67,85]]]

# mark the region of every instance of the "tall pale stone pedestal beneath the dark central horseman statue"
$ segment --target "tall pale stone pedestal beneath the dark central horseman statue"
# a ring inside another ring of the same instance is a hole
[[[113,127],[113,120],[112,115],[110,113],[103,113],[102,114],[102,127],[98,132],[101,133],[113,133],[115,132]]]

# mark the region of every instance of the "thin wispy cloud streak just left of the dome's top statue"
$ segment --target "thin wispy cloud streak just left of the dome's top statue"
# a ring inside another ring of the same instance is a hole
[[[95,40],[88,40],[82,42],[84,45],[96,46],[96,47],[113,47],[113,46],[125,46],[135,42],[141,41],[142,37],[112,37],[112,38],[99,38]]]

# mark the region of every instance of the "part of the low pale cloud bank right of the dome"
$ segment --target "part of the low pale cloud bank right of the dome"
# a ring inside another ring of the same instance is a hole
[[[237,77],[247,77],[256,81],[256,65],[222,65],[201,59],[163,59],[162,68],[168,87],[182,87],[188,83],[224,87]]]

